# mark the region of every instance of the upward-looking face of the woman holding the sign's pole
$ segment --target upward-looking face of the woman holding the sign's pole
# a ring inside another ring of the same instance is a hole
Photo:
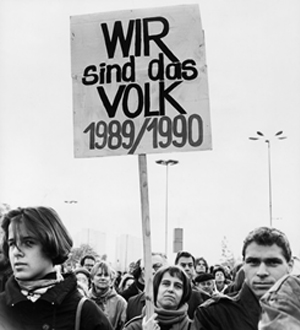
[[[167,271],[159,284],[156,305],[159,308],[175,310],[183,295],[183,282]]]

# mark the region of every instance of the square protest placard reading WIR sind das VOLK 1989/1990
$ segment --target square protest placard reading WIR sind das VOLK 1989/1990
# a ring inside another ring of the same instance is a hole
[[[197,6],[71,18],[76,157],[211,149]]]

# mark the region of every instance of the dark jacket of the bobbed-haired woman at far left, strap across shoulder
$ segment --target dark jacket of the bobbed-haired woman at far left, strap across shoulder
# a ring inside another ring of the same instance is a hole
[[[50,288],[36,302],[28,300],[11,277],[0,294],[0,326],[7,329],[74,330],[77,304],[82,297],[74,274]],[[14,325],[18,321],[18,325]],[[112,329],[104,313],[91,300],[82,307],[80,328],[83,330]]]

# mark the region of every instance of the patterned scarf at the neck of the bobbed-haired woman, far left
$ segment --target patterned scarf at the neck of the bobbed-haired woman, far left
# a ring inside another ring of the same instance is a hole
[[[46,278],[38,280],[19,280],[16,278],[16,281],[20,286],[21,293],[28,300],[36,302],[51,287],[64,280],[63,276],[59,272],[50,273],[45,277]]]

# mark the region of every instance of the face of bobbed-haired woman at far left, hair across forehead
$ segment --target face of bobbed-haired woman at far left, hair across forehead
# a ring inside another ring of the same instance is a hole
[[[37,238],[29,234],[24,224],[17,228],[18,238],[12,224],[8,228],[9,260],[14,276],[19,280],[37,280],[54,271],[51,259],[45,256]]]

